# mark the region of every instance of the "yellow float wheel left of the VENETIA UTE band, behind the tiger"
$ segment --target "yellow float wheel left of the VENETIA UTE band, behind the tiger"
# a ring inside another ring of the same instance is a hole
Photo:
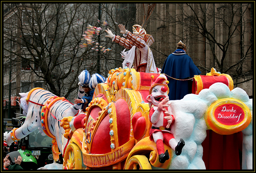
[[[72,143],[68,145],[63,161],[67,169],[83,169],[83,157],[77,144]]]

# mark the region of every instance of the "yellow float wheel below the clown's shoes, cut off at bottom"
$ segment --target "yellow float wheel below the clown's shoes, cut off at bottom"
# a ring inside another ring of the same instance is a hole
[[[151,169],[151,165],[146,156],[135,155],[128,160],[125,169]]]

